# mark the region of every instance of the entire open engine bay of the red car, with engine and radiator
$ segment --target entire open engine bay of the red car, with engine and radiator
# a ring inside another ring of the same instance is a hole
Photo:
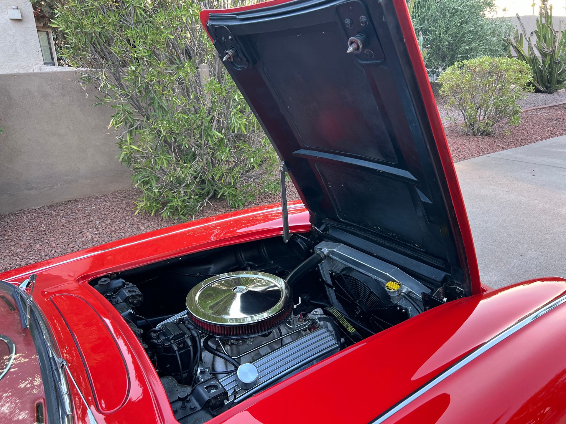
[[[453,294],[351,246],[297,234],[91,284],[140,341],[182,424],[206,422]]]

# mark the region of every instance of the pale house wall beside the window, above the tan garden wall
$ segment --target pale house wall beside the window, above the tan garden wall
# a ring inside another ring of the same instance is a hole
[[[22,19],[8,19],[18,6]],[[32,4],[29,0],[0,0],[0,73],[32,72],[44,67]]]

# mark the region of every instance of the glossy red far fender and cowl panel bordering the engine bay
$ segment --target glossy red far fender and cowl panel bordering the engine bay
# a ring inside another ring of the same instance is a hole
[[[291,232],[309,231],[308,218],[301,202],[290,202]],[[118,311],[88,281],[109,272],[279,236],[281,232],[280,205],[260,206],[3,272],[0,280],[18,283],[32,273],[38,275],[33,298],[98,423],[175,422],[157,373],[138,339]],[[124,373],[129,379],[127,390]],[[87,422],[79,394],[72,384],[70,388],[75,418],[77,422]]]

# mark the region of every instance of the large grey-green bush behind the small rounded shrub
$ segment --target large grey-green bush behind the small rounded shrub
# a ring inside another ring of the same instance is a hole
[[[488,19],[493,0],[416,0],[411,19],[428,46],[424,64],[434,79],[458,60],[505,55],[503,36],[512,24]]]

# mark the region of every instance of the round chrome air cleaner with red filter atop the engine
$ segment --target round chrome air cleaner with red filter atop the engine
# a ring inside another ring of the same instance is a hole
[[[209,334],[245,337],[272,330],[293,307],[285,280],[259,271],[227,272],[197,284],[187,295],[191,320]]]

